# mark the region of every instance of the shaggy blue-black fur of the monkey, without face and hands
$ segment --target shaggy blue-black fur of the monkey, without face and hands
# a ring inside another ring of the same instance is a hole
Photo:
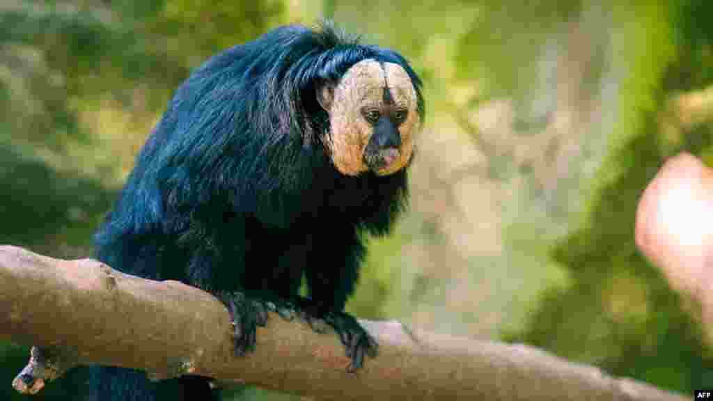
[[[212,57],[178,88],[145,143],[96,233],[97,258],[133,275],[257,299],[297,297],[305,275],[320,313],[342,311],[366,251],[361,233],[388,233],[407,195],[406,169],[344,176],[324,146],[329,116],[317,87],[364,59],[403,66],[423,118],[421,82],[407,62],[331,24],[284,26]],[[132,370],[97,373],[101,400],[209,392],[195,377],[155,384]]]

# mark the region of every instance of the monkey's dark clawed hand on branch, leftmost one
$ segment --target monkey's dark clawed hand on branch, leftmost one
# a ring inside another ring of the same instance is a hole
[[[230,313],[230,323],[234,330],[235,356],[242,356],[255,350],[257,326],[265,327],[267,311],[270,307],[240,292],[222,293],[220,300],[225,303]]]

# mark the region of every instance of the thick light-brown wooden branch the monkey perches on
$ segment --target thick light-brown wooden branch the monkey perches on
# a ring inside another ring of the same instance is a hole
[[[210,294],[125,275],[96,260],[0,247],[0,338],[42,347],[45,355],[35,348],[26,372],[47,379],[73,365],[100,363],[324,399],[684,400],[525,345],[362,323],[379,341],[379,356],[356,373],[347,372],[336,335],[274,314],[258,329],[257,350],[232,357],[227,310]],[[53,369],[38,370],[42,357]]]

